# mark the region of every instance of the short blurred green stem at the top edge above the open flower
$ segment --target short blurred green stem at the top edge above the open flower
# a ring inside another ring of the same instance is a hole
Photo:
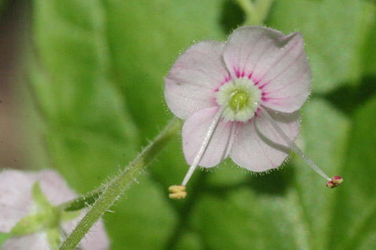
[[[236,0],[237,4],[246,13],[244,25],[261,25],[274,0]]]

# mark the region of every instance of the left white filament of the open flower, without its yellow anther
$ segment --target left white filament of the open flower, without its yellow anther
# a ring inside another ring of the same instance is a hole
[[[191,166],[189,166],[187,174],[185,174],[185,177],[182,182],[182,186],[186,186],[189,182],[189,179],[191,179],[191,176],[193,175],[193,172],[196,170],[198,163],[202,159],[202,156],[204,155],[205,151],[207,150],[207,147],[209,145],[209,142],[211,138],[213,137],[213,134],[215,132],[215,129],[218,126],[218,123],[220,122],[220,118],[222,117],[222,114],[224,110],[227,108],[228,101],[235,95],[237,91],[231,93],[231,95],[226,99],[226,102],[224,105],[220,107],[220,110],[218,110],[217,114],[215,114],[213,121],[211,122],[211,125],[209,126],[209,129],[207,131],[207,135],[204,138],[204,141],[202,142],[200,149],[198,149],[198,152],[195,155],[195,158],[193,159],[193,162]]]

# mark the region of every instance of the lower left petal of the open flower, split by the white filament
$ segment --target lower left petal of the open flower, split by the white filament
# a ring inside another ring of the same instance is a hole
[[[202,145],[209,126],[213,118],[218,112],[218,107],[204,108],[190,116],[183,125],[183,151],[185,159],[188,164],[193,162],[193,159]],[[207,151],[205,151],[199,166],[212,167],[219,164],[224,160],[233,144],[233,134],[236,127],[233,122],[224,122],[223,120],[218,123],[213,137],[211,138]],[[233,129],[231,129],[233,127]]]

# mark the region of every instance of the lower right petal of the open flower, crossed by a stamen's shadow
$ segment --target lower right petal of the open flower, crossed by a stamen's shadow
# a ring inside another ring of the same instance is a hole
[[[277,168],[290,151],[263,112],[265,111],[259,112],[252,121],[239,127],[230,153],[236,164],[255,172]],[[299,133],[298,112],[271,115],[283,132],[291,140],[295,140]]]

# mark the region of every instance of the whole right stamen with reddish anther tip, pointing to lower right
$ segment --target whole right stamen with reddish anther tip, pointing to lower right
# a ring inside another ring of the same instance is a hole
[[[329,188],[335,188],[336,186],[340,185],[341,182],[343,182],[342,177],[338,175],[334,176],[333,178],[329,178],[329,176],[326,173],[324,173],[324,171],[322,171],[311,159],[307,157],[307,155],[305,155],[305,153],[303,153],[303,151],[301,151],[301,149],[298,148],[295,142],[290,140],[290,138],[285,134],[285,132],[283,132],[281,127],[279,127],[279,125],[273,120],[272,116],[270,116],[268,110],[266,110],[265,108],[262,108],[261,106],[260,108],[263,109],[264,113],[266,114],[266,118],[268,118],[268,121],[272,124],[277,134],[279,134],[279,136],[281,136],[281,138],[286,142],[288,147],[290,147],[292,151],[294,151],[297,155],[299,155],[299,157],[302,160],[304,160],[305,163],[307,163],[308,166],[310,166],[314,171],[316,171],[316,173],[318,173],[324,179],[326,179],[327,186]]]

